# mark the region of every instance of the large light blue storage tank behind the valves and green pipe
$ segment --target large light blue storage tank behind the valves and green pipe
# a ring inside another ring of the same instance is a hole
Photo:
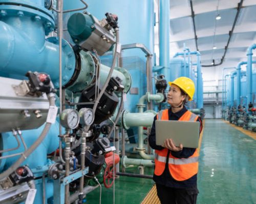
[[[155,14],[153,0],[88,0],[86,2],[89,6],[87,11],[99,20],[105,18],[104,14],[106,12],[114,13],[118,16],[121,44],[142,43],[154,54]],[[82,7],[83,4],[78,0],[64,0],[64,10]],[[72,13],[65,14],[65,22],[63,22],[64,29],[70,15]],[[68,33],[65,36],[69,38]],[[101,63],[110,66],[111,62],[112,56],[104,56]],[[138,48],[123,50],[122,67],[130,72],[133,80],[131,87],[133,94],[127,94],[125,109],[136,112],[136,104],[139,98],[146,93],[145,54]]]

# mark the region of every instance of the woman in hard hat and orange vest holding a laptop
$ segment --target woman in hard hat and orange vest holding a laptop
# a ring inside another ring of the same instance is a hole
[[[157,195],[162,204],[194,204],[199,193],[198,150],[183,148],[182,144],[176,147],[172,139],[166,139],[163,146],[156,145],[155,120],[199,121],[201,132],[201,119],[184,106],[187,100],[193,99],[195,84],[189,78],[180,77],[174,82],[169,82],[169,85],[167,102],[170,108],[160,111],[154,118],[151,135],[148,137],[148,142],[155,149],[156,155],[153,180],[156,182]]]

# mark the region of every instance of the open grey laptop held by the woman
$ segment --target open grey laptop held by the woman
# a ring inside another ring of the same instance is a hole
[[[156,120],[156,144],[164,145],[171,138],[175,146],[197,148],[200,134],[200,122]]]

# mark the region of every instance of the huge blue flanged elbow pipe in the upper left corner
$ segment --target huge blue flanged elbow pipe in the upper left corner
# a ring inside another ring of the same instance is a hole
[[[58,88],[58,39],[45,39],[53,31],[53,15],[48,10],[49,13],[46,14],[40,8],[44,5],[42,0],[22,3],[0,0],[0,3],[4,2],[7,3],[0,5],[0,75],[23,79],[28,70],[46,72]],[[62,41],[62,85],[65,85],[74,73],[76,60],[71,45],[65,40]]]

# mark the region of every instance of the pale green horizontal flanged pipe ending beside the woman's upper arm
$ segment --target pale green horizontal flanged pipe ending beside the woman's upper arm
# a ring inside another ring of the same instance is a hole
[[[146,111],[144,113],[130,113],[125,110],[122,113],[122,125],[125,130],[130,127],[144,126],[151,127],[154,117],[157,113],[155,111]]]

